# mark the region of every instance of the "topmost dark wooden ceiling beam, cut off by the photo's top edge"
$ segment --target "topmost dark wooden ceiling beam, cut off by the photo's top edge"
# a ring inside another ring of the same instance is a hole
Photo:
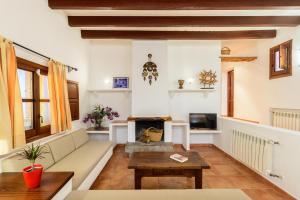
[[[299,9],[299,0],[48,0],[52,9],[251,10]]]

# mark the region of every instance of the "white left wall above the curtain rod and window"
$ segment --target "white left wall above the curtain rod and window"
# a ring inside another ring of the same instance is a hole
[[[0,0],[0,34],[28,48],[45,54],[78,72],[68,74],[68,79],[80,86],[80,114],[87,111],[86,95],[88,76],[87,42],[79,30],[72,30],[66,16],[48,7],[47,0]],[[16,47],[17,56],[46,65],[47,60]],[[80,121],[73,122],[79,127]]]

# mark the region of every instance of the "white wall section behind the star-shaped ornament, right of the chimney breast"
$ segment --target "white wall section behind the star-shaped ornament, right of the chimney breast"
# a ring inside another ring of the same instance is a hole
[[[218,82],[211,93],[177,93],[170,95],[170,115],[188,120],[189,113],[221,112],[221,62],[219,41],[169,41],[169,88],[178,88],[178,80],[185,80],[185,89],[200,89],[202,70],[217,72]],[[191,81],[191,82],[190,82]]]

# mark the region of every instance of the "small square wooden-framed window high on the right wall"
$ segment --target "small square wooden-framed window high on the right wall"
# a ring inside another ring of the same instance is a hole
[[[270,79],[292,75],[292,40],[270,49]]]

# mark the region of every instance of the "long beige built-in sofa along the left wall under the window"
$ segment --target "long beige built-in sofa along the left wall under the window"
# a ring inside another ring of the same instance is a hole
[[[73,171],[73,190],[88,190],[113,153],[113,144],[92,140],[84,129],[43,144],[49,153],[37,163],[45,171]],[[1,161],[2,172],[19,172],[29,163],[15,153]]]

